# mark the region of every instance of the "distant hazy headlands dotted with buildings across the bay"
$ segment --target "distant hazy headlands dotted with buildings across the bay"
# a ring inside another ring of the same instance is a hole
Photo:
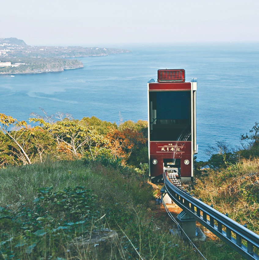
[[[0,75],[62,72],[83,68],[80,57],[131,52],[114,48],[30,46],[17,38],[0,38]]]

